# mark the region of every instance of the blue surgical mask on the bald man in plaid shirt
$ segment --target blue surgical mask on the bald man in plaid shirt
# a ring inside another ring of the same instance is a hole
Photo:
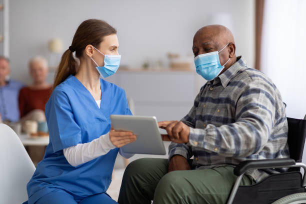
[[[229,44],[229,43],[228,43]],[[226,44],[220,51],[222,51],[228,44]],[[224,68],[224,65],[229,61],[228,60],[221,65],[219,59],[219,52],[213,51],[205,54],[199,54],[194,57],[194,64],[196,73],[201,75],[206,80],[214,79]]]

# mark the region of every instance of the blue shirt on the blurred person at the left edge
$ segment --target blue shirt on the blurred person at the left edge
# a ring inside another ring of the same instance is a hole
[[[6,85],[0,86],[0,114],[3,121],[19,120],[18,95],[22,86],[15,80],[8,80]]]

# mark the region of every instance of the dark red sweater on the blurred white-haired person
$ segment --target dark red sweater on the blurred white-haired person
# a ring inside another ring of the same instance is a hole
[[[44,111],[45,103],[51,95],[52,87],[44,89],[33,89],[30,87],[23,87],[19,92],[19,111],[20,118],[34,109],[41,109]]]

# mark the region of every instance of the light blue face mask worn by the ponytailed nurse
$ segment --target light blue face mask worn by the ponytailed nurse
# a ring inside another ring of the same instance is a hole
[[[95,47],[93,47],[95,48]],[[100,52],[97,48],[95,48],[98,52]],[[102,52],[100,52],[103,54]],[[92,61],[96,64],[96,70],[99,72],[100,77],[106,78],[114,74],[120,65],[121,55],[113,55],[113,54],[103,54],[104,55],[104,66],[99,66],[92,57]]]

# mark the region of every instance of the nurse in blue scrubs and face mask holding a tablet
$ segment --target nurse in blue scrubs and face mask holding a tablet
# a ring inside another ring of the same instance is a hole
[[[131,114],[125,92],[101,77],[116,72],[116,30],[89,19],[62,57],[45,106],[50,142],[27,184],[28,203],[116,203],[106,193],[120,147],[132,132],[111,129],[110,114]],[[73,53],[75,52],[75,60]]]

